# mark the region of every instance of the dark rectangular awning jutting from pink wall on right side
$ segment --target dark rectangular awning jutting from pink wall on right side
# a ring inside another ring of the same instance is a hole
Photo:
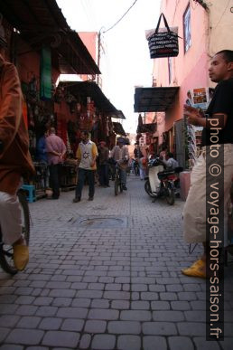
[[[169,109],[179,89],[135,88],[135,112],[161,112]]]

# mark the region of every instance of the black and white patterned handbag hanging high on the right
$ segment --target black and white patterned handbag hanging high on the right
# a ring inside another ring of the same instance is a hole
[[[162,17],[165,28],[160,29],[159,26]],[[177,32],[178,28],[177,31],[172,31],[167,23],[164,14],[160,14],[155,32],[146,35],[151,59],[178,56],[179,44]]]

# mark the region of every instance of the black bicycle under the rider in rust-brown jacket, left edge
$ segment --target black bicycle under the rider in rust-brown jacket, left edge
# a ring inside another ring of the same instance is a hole
[[[26,196],[23,190],[17,192],[19,203],[21,205],[22,212],[22,224],[23,224],[23,238],[27,245],[29,244],[30,237],[30,213],[29,207],[26,200]],[[0,266],[5,270],[5,272],[15,275],[18,270],[14,267],[13,259],[13,246],[5,244],[2,240],[2,232],[0,227]]]

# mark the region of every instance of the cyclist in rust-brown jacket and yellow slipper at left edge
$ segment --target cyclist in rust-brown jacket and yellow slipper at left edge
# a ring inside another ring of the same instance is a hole
[[[14,267],[24,270],[29,251],[22,234],[17,190],[23,177],[34,174],[29,137],[23,119],[23,93],[18,72],[6,61],[4,28],[0,24],[0,226],[5,244],[13,245]]]

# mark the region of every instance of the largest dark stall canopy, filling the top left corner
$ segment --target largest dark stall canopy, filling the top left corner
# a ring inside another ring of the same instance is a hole
[[[55,0],[4,0],[0,3],[0,12],[33,50],[41,50],[42,45],[51,47],[52,56],[59,58],[61,73],[100,73]]]

